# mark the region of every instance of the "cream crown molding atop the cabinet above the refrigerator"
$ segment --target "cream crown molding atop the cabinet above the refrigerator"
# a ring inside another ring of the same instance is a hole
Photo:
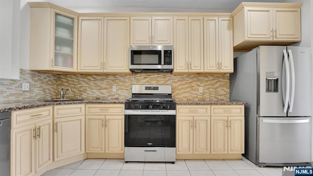
[[[237,8],[231,13],[234,17],[244,7],[263,7],[263,8],[301,8],[302,3],[286,3],[286,2],[241,2]]]

